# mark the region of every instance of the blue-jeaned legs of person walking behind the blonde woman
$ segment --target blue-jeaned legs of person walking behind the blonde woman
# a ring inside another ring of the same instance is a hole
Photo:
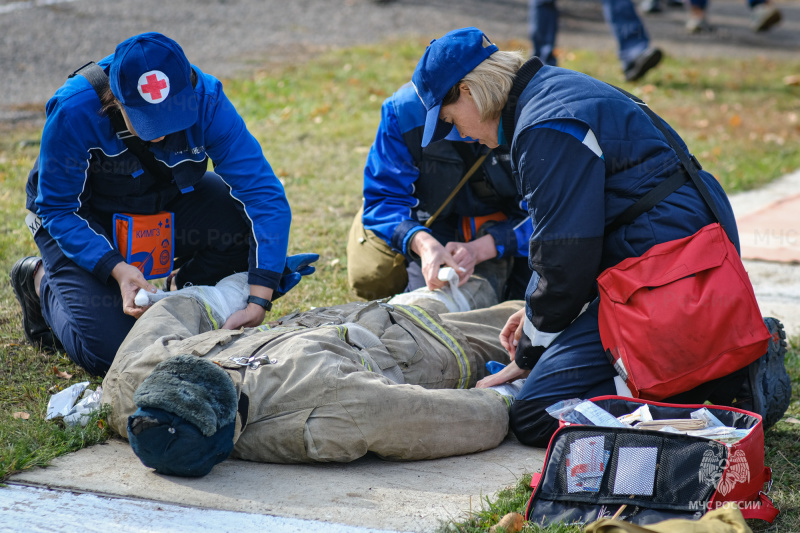
[[[533,55],[545,65],[556,66],[558,34],[556,0],[529,0],[529,24]],[[661,61],[663,53],[650,46],[650,37],[631,0],[603,0],[603,16],[617,39],[618,56],[626,81],[636,81]]]

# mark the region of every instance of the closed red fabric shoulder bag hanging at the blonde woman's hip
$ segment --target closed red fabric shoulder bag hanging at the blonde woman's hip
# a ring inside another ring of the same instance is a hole
[[[767,351],[750,279],[719,224],[628,258],[597,283],[603,348],[636,398],[691,390]]]

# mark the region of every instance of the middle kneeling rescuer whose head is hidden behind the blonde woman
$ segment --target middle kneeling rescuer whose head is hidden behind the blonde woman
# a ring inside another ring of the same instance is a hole
[[[435,289],[444,284],[436,277],[439,267],[450,266],[462,282],[473,272],[488,279],[500,300],[521,299],[531,275],[527,256],[532,226],[511,176],[508,149],[490,152],[473,140],[464,142],[455,129],[442,142],[423,149],[424,124],[425,108],[411,84],[383,103],[364,168],[364,205],[349,237],[351,287],[367,299],[400,292],[406,288],[405,276],[398,276],[399,285],[392,286],[386,270],[402,269],[407,263],[408,290],[425,285]],[[431,215],[486,154],[480,168],[426,228]],[[380,264],[374,258],[381,256],[372,255],[376,247],[385,254],[402,254],[406,262]],[[382,289],[374,290],[376,285]]]

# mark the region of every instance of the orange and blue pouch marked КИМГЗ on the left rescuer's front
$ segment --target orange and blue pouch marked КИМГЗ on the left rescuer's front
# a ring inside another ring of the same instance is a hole
[[[142,271],[145,279],[163,278],[172,272],[173,216],[167,211],[155,215],[114,214],[117,249],[128,264]]]

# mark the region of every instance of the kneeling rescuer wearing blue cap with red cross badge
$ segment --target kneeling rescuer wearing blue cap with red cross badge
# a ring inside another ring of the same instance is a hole
[[[174,287],[248,272],[251,299],[224,324],[231,329],[260,324],[271,307],[291,221],[283,186],[222,84],[178,43],[137,35],[98,65],[104,89],[81,69],[47,103],[26,188],[42,259],[11,272],[28,339],[60,341],[92,374],[105,373],[144,311],[137,291],[155,290],[117,249],[114,214],[174,214],[174,256],[184,261]],[[132,141],[144,146],[138,155]]]

